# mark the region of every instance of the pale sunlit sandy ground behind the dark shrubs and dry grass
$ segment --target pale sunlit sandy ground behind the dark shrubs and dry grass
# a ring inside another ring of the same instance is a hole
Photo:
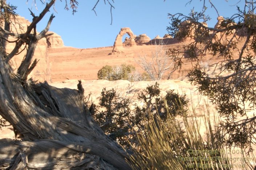
[[[182,78],[181,78],[182,79]],[[185,81],[182,80],[160,80],[159,88],[161,91],[161,95],[165,95],[165,92],[167,90],[175,90],[175,92],[178,92],[179,94],[187,94],[187,97],[190,99],[190,103],[188,105],[188,109],[192,111],[195,110],[196,118],[198,119],[198,122],[200,122],[200,135],[203,137],[204,140],[207,140],[206,138],[206,126],[203,122],[204,115],[207,114],[207,109],[210,114],[210,120],[211,124],[213,125],[214,119],[216,115],[216,110],[214,105],[212,105],[210,102],[208,102],[206,96],[202,96],[198,94],[196,91],[196,86],[191,85],[190,83],[186,82],[186,77],[183,77]],[[90,101],[92,100],[94,103],[98,104],[99,97],[101,94],[101,91],[103,88],[106,88],[107,90],[110,90],[114,88],[119,94],[121,94],[123,97],[129,97],[132,99],[132,105],[134,103],[140,104],[141,101],[138,101],[137,95],[139,92],[141,92],[143,89],[145,89],[148,85],[155,84],[156,81],[139,81],[139,82],[129,82],[127,80],[117,80],[117,81],[107,81],[107,80],[82,80],[82,86],[85,89],[85,96],[88,96],[90,93],[92,94],[90,98]],[[70,89],[77,89],[77,80],[66,80],[62,82],[54,82],[50,85],[56,86],[58,88],[70,88]],[[180,122],[180,124],[183,126],[183,120],[180,116],[177,116],[176,119]],[[195,119],[195,118],[193,118]],[[221,120],[220,120],[221,121]],[[2,138],[11,138],[15,139],[14,133],[12,131],[12,127],[5,127],[0,130],[0,139]],[[256,146],[253,146],[253,149],[256,149]],[[236,150],[239,150],[239,148],[233,148],[233,150],[236,152]],[[256,155],[256,152],[253,152]],[[230,157],[230,155],[229,155]],[[252,156],[249,156],[252,158]],[[240,154],[232,154],[232,158],[241,158]],[[237,162],[237,164],[241,164],[240,162]]]

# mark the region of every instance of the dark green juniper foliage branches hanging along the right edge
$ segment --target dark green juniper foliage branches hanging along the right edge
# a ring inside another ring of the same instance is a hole
[[[191,10],[188,16],[169,14],[169,33],[179,40],[191,41],[182,50],[170,49],[168,54],[175,69],[182,67],[185,56],[194,62],[189,80],[198,85],[199,92],[207,95],[225,118],[221,127],[223,135],[229,136],[227,140],[222,136],[219,139],[229,145],[251,146],[255,144],[256,132],[255,113],[249,114],[256,109],[256,1],[245,0],[245,6],[237,7],[230,18],[219,16],[214,28],[204,24],[210,17],[205,14],[206,0],[203,3],[201,12]],[[215,75],[208,74],[199,64],[206,54],[222,59],[215,64]]]

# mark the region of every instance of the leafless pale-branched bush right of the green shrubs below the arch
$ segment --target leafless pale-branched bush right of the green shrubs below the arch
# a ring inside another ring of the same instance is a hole
[[[171,60],[164,50],[163,40],[159,40],[159,44],[155,41],[155,51],[151,53],[151,58],[147,59],[145,56],[140,56],[138,64],[145,70],[151,80],[161,80],[165,72],[171,70]],[[169,73],[168,79],[172,72]]]

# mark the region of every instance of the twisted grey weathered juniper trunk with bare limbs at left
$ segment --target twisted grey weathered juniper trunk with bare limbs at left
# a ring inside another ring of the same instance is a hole
[[[16,7],[4,0],[0,2],[3,26],[0,30],[0,115],[12,124],[21,139],[0,140],[0,169],[130,169],[126,152],[92,120],[84,103],[81,81],[78,90],[27,81],[37,63],[37,60],[32,61],[36,44],[50,35],[47,31],[54,16],[50,16],[39,34],[36,25],[56,0],[46,3],[39,16],[31,12],[33,21],[23,34],[9,29]],[[70,4],[75,12],[77,1],[70,0]],[[9,36],[17,40],[7,54],[5,47]],[[9,60],[24,44],[28,50],[15,73]]]

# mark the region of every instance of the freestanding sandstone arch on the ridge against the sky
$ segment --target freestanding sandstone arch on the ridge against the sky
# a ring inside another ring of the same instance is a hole
[[[123,48],[122,37],[125,34],[128,34],[130,36],[130,46],[136,46],[136,43],[134,40],[135,35],[133,34],[133,31],[131,31],[129,27],[124,27],[124,28],[121,28],[121,31],[117,35],[117,38],[115,38],[114,47],[112,50],[113,53],[122,52],[122,48]]]

